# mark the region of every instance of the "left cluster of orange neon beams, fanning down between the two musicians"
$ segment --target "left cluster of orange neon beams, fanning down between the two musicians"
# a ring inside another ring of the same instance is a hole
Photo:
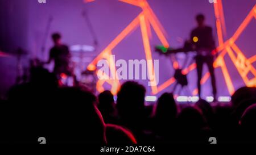
[[[130,5],[134,6],[139,6],[142,8],[141,14],[137,16],[115,39],[96,57],[94,60],[88,65],[89,70],[96,70],[96,64],[101,58],[105,58],[107,61],[110,61],[110,55],[111,51],[117,44],[119,44],[120,41],[122,41],[129,33],[131,33],[135,28],[138,26],[141,26],[141,31],[142,31],[142,39],[143,39],[143,45],[144,45],[144,52],[146,55],[147,60],[152,60],[151,56],[151,46],[150,46],[150,41],[149,37],[151,36],[151,29],[150,29],[150,24],[154,31],[156,32],[156,35],[159,37],[159,40],[164,44],[166,47],[169,47],[168,41],[164,37],[164,30],[162,28],[162,25],[156,18],[154,12],[151,10],[150,6],[148,5],[146,0],[141,0],[141,1],[134,1],[134,0],[119,0],[121,2],[129,3]],[[102,90],[102,85],[104,82],[108,82],[110,85],[112,85],[112,91],[117,91],[119,87],[119,80],[117,79],[116,75],[116,70],[115,66],[109,65],[110,72],[112,76],[115,76],[115,80],[112,82],[108,81],[103,81],[103,82],[98,82],[97,87],[98,90]],[[152,72],[154,75],[154,66],[152,68],[148,68],[148,72]],[[150,77],[151,82],[155,82],[155,76]],[[152,93],[157,93],[158,89],[157,86],[151,86]]]

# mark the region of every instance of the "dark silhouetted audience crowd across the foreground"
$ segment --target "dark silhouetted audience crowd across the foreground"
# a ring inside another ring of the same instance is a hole
[[[145,144],[254,143],[256,88],[241,87],[230,104],[212,106],[200,99],[180,106],[163,93],[145,106],[146,89],[127,81],[117,100],[110,91],[96,97],[85,87],[59,87],[43,68],[31,70],[27,83],[13,86],[1,100],[1,143]]]

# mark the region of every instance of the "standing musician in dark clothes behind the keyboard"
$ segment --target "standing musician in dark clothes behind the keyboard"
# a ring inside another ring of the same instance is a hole
[[[212,90],[213,97],[216,99],[216,79],[214,76],[214,68],[213,68],[213,53],[212,51],[215,49],[215,42],[213,39],[212,28],[206,26],[204,23],[204,15],[199,14],[196,16],[197,27],[191,32],[191,42],[193,44],[193,48],[197,52],[195,57],[196,66],[197,66],[197,88],[199,97],[201,97],[201,78],[203,72],[204,63],[207,64],[210,78],[212,80]]]

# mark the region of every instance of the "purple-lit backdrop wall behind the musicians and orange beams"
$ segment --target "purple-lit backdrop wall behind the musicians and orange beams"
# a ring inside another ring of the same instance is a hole
[[[225,0],[222,2],[227,28],[226,38],[233,35],[255,2],[255,0]],[[196,26],[195,15],[199,12],[205,14],[207,24],[216,31],[213,4],[208,0],[148,0],[148,3],[166,30],[167,40],[172,47],[180,47],[183,44],[177,41],[177,37],[188,39],[189,32]],[[82,17],[83,10],[88,13],[96,31],[99,43],[97,52],[101,52],[141,12],[139,7],[116,0],[96,0],[86,4],[82,0],[47,0],[46,4],[39,4],[36,0],[0,0],[0,50],[14,51],[17,47],[27,49],[30,55],[23,58],[24,64],[30,57],[46,60],[48,50],[52,46],[50,35],[46,42],[47,52],[42,53],[40,49],[50,16],[53,18],[50,33],[61,32],[64,43],[93,45],[93,37]],[[246,57],[255,55],[255,25],[256,20],[252,20],[237,40],[238,47],[245,51]],[[160,41],[154,31],[152,32],[151,45],[159,44]],[[217,41],[217,35],[215,36]],[[140,28],[118,44],[113,53],[116,58],[125,60],[145,58]],[[160,60],[159,84],[161,84],[172,76],[174,70],[171,68],[169,58],[159,56],[155,52],[152,52],[152,57]],[[225,58],[235,89],[245,85],[233,63],[228,57]],[[6,90],[14,83],[15,63],[15,58],[0,57],[1,94],[6,93]],[[255,63],[254,66],[256,66]],[[216,75],[218,95],[228,95],[220,69],[216,69]],[[189,89],[192,91],[196,87],[196,72],[190,73],[188,77]],[[140,82],[147,86],[147,81]],[[208,80],[203,86],[204,96],[211,94],[209,88],[210,81]],[[170,89],[171,87],[167,88],[167,90]],[[150,92],[150,87],[147,87],[147,93],[150,94]]]

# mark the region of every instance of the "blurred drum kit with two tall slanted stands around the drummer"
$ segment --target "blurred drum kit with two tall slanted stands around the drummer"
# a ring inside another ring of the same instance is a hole
[[[90,35],[93,37],[93,44],[94,46],[90,45],[72,45],[70,47],[71,52],[71,59],[70,59],[70,68],[71,68],[71,75],[67,74],[60,74],[58,76],[59,84],[61,86],[84,86],[86,89],[89,89],[93,92],[96,91],[96,82],[97,82],[97,75],[95,71],[90,71],[86,69],[89,62],[96,57],[96,47],[98,47],[98,39],[96,33],[94,32],[92,23],[90,22],[86,10],[82,11],[82,17],[85,20],[86,26],[90,32]],[[46,41],[49,35],[49,30],[51,27],[51,23],[53,21],[53,17],[49,16],[49,20],[47,23],[44,40],[42,44],[42,53],[45,52]],[[27,56],[28,52],[24,51],[23,49],[19,48],[17,51],[13,53],[2,52],[0,51],[0,57],[16,57],[17,59],[17,76],[16,76],[16,84],[27,82],[28,77],[30,77],[29,70],[31,68],[44,68],[43,61],[40,61],[38,58],[30,59],[30,66],[28,68],[24,68],[22,65],[22,58]]]

